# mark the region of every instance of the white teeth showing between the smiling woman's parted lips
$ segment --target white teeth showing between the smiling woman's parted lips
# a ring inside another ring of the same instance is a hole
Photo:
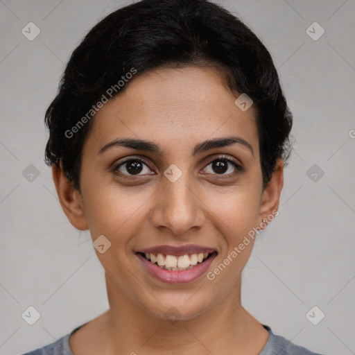
[[[203,263],[209,259],[209,257],[212,255],[217,254],[217,252],[200,252],[196,254],[185,254],[180,256],[144,252],[137,252],[137,254],[140,254],[142,257],[164,270],[184,271],[195,268],[200,263]]]

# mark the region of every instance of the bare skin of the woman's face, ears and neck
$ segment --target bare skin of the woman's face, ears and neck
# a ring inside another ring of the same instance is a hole
[[[162,244],[204,245],[218,252],[211,271],[277,210],[284,164],[277,161],[263,191],[256,112],[254,107],[242,112],[234,104],[238,96],[212,67],[144,73],[94,117],[83,147],[81,193],[61,165],[53,166],[55,188],[70,223],[89,229],[93,241],[103,234],[112,243],[103,254],[96,250],[105,269],[110,309],[71,336],[74,355],[252,355],[263,349],[268,332],[241,305],[241,272],[254,242],[214,281],[202,275],[180,285],[150,276],[134,252]],[[248,141],[254,156],[241,144],[191,155],[206,139],[230,136]],[[164,154],[124,147],[98,154],[118,138],[153,141]],[[236,168],[228,163],[228,170],[218,173],[211,163],[220,155],[245,170],[233,176]],[[130,157],[145,157],[149,166],[143,165],[133,178],[125,164],[110,171]],[[182,171],[176,182],[164,176],[171,164]],[[166,319],[171,307],[180,313],[178,322]]]

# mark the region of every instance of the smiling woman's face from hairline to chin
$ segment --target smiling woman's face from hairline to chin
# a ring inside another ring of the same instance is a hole
[[[157,317],[174,309],[188,319],[239,299],[253,240],[237,257],[233,250],[278,207],[279,193],[262,191],[256,112],[237,107],[238,96],[215,69],[159,69],[132,79],[94,117],[83,147],[83,214],[71,223],[88,227],[93,241],[101,236],[104,252],[96,254],[109,300],[129,300]],[[203,144],[225,138],[236,143]],[[149,145],[103,149],[121,139]],[[154,151],[146,149],[151,144]],[[191,254],[214,253],[189,270],[170,271],[146,260],[147,250],[185,268],[196,263]]]

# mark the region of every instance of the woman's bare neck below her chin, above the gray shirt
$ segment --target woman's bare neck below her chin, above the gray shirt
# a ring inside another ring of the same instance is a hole
[[[171,315],[177,311],[176,320],[143,309],[107,275],[106,285],[110,309],[104,313],[102,334],[107,354],[117,354],[117,349],[139,355],[259,354],[268,338],[266,329],[241,306],[240,282],[223,302],[189,319],[178,319],[178,311],[170,308]]]

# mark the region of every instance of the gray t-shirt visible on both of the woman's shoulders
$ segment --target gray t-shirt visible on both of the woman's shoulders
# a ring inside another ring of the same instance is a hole
[[[85,324],[80,325],[80,327],[83,327]],[[62,338],[59,338],[54,343],[40,347],[33,350],[32,352],[27,352],[26,354],[22,355],[73,355],[69,347],[69,337],[80,327],[77,327],[71,331],[70,334],[62,336]],[[263,324],[263,327],[269,332],[269,336],[265,347],[263,347],[259,355],[322,355],[315,352],[310,352],[305,347],[295,345],[282,336],[275,336],[275,334],[272,333],[270,327],[267,325]]]

